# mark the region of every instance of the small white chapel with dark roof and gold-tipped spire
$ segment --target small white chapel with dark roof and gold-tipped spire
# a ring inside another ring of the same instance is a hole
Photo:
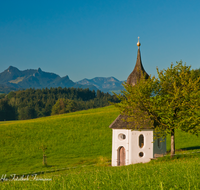
[[[138,37],[136,64],[127,78],[133,88],[142,74],[149,77],[142,65],[140,45]],[[109,126],[112,129],[112,166],[145,163],[166,154],[166,139],[153,140],[154,129],[149,122],[144,122],[140,130],[131,130],[130,124],[134,125],[134,122],[127,123],[125,119],[126,116],[119,115]]]

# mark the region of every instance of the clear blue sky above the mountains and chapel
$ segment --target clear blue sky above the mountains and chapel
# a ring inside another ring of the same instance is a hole
[[[73,81],[126,80],[138,36],[148,74],[180,60],[200,68],[200,1],[1,0],[0,72],[12,65]]]

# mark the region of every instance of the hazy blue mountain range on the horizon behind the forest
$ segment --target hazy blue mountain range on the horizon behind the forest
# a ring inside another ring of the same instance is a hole
[[[49,73],[38,69],[27,69],[20,71],[18,68],[10,66],[0,73],[0,92],[8,93],[12,90],[26,88],[51,88],[51,87],[74,87],[89,88],[97,91],[118,93],[123,90],[123,81],[114,77],[95,77],[93,79],[83,79],[77,82],[70,80],[69,76],[60,77],[55,73]]]

